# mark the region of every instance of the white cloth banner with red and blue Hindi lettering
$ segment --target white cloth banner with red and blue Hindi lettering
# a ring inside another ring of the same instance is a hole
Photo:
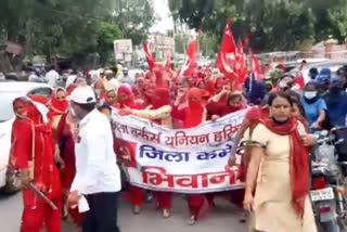
[[[114,114],[116,154],[131,155],[126,169],[131,184],[141,188],[181,193],[240,189],[239,168],[230,168],[228,159],[245,113],[179,130]]]

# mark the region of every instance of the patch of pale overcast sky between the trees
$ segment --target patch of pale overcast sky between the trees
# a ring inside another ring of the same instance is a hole
[[[174,22],[170,17],[168,0],[153,0],[153,7],[158,21],[151,28],[151,33],[165,34],[168,29],[174,29]]]

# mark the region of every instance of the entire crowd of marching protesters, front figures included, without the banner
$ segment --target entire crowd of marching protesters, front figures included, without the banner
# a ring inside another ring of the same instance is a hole
[[[46,225],[50,232],[60,232],[61,217],[86,232],[119,230],[121,180],[110,126],[114,111],[182,129],[246,108],[234,139],[235,143],[254,141],[242,158],[245,190],[187,194],[189,224],[194,224],[205,208],[214,207],[214,198],[220,195],[240,207],[241,221],[247,217],[244,209],[250,211],[256,231],[316,231],[308,198],[308,154],[314,144],[310,133],[346,125],[347,67],[339,68],[336,76],[329,68],[311,69],[305,88],[297,88],[296,77],[284,75],[281,65],[277,75],[249,73],[243,85],[208,66],[197,67],[193,74],[154,67],[136,78],[130,78],[126,68],[119,69],[70,74],[62,88],[52,68],[46,76],[55,88],[51,99],[30,96],[13,102],[16,119],[11,164],[21,170],[25,186],[21,231],[38,232]],[[234,153],[230,166],[235,164]],[[35,195],[29,183],[59,210]],[[82,197],[90,208],[86,214],[76,207]],[[155,198],[164,218],[171,216],[172,197],[171,192],[131,184],[124,195],[136,215],[144,199]]]

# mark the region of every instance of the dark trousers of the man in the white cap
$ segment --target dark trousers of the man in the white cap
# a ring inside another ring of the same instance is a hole
[[[117,225],[119,192],[87,195],[90,210],[86,212],[82,232],[120,232]]]

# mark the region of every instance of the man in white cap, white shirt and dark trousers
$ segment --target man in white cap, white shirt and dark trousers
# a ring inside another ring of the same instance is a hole
[[[69,101],[70,114],[79,120],[79,131],[75,142],[76,176],[68,205],[80,206],[82,196],[87,198],[89,210],[82,232],[119,232],[117,211],[121,181],[111,124],[95,108],[95,94],[90,87],[75,89]]]

